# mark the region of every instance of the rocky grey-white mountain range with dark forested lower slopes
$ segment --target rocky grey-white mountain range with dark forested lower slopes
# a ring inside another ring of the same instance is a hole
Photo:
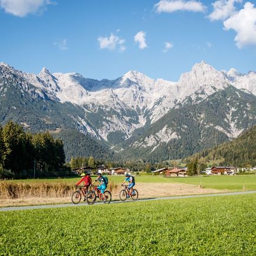
[[[0,123],[65,134],[64,144],[68,133],[80,132],[111,157],[154,162],[192,155],[256,124],[256,73],[218,71],[202,61],[178,82],[137,71],[99,81],[45,67],[28,74],[0,63],[0,103]],[[66,150],[69,157],[83,154]]]

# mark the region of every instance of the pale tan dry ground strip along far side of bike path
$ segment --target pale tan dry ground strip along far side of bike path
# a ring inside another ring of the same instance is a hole
[[[204,189],[197,185],[179,183],[136,183],[134,187],[139,192],[139,198],[157,198],[162,196],[196,195],[204,193],[227,192],[218,189]],[[119,199],[119,186],[114,189],[112,196],[114,200]],[[0,207],[22,206],[22,205],[45,205],[64,204],[71,202],[71,195],[64,198],[20,198],[20,199],[0,199]]]

